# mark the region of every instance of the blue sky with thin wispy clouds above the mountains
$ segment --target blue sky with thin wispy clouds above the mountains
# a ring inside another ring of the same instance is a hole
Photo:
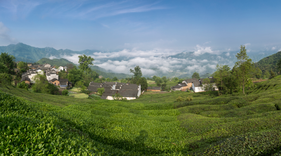
[[[0,45],[281,50],[281,1],[0,0]]]

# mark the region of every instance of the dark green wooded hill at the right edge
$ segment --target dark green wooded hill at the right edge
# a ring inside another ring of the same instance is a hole
[[[266,71],[270,71],[270,69],[272,69],[272,71],[274,72],[279,72],[279,70],[276,68],[276,63],[280,59],[281,51],[277,52],[276,54],[265,57],[259,62],[256,62],[255,66],[259,67],[263,71],[263,73],[265,73]]]

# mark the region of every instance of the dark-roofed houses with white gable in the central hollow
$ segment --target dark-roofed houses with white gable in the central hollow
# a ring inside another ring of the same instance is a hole
[[[104,82],[95,83],[91,82],[88,86],[88,90],[94,93],[98,92],[99,88],[104,88],[105,91],[102,94],[102,99],[113,100],[113,95],[120,94],[123,98],[128,100],[136,99],[142,93],[140,85],[128,84],[128,83],[118,83],[118,82]]]

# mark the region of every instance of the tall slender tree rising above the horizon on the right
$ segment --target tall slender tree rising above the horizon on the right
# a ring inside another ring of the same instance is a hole
[[[235,67],[238,69],[237,74],[239,74],[240,82],[243,86],[243,94],[245,94],[245,84],[250,81],[250,73],[252,70],[252,60],[247,56],[247,50],[245,45],[240,46],[240,52],[236,55],[237,62]]]

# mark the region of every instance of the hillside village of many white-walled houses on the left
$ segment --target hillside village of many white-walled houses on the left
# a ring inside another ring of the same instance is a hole
[[[60,86],[60,88],[67,88],[72,87],[72,83],[68,82],[68,79],[59,79],[58,72],[61,70],[67,69],[67,67],[60,66],[58,69],[56,69],[55,66],[51,66],[50,64],[39,64],[39,65],[32,65],[31,63],[28,63],[29,70],[27,72],[22,73],[20,82],[25,82],[26,84],[32,85],[35,83],[33,80],[33,77],[37,74],[44,74],[46,75],[46,80],[49,81],[49,83],[52,83],[56,86]]]

